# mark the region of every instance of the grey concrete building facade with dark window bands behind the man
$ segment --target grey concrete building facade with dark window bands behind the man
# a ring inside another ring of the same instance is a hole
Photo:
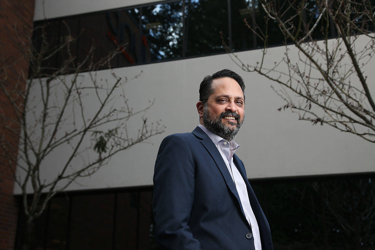
[[[129,106],[140,110],[153,102],[144,117],[166,126],[163,134],[116,154],[95,174],[77,179],[52,198],[36,224],[39,249],[157,249],[151,200],[159,144],[166,135],[190,132],[198,125],[199,84],[205,75],[223,68],[240,73],[246,82],[246,119],[236,138],[242,145],[237,154],[269,219],[275,249],[354,249],[358,243],[360,249],[374,249],[374,209],[363,215],[374,206],[371,143],[279,112],[284,102],[271,83],[242,71],[226,54],[223,42],[246,63],[261,60],[261,40],[243,24],[252,15],[263,18],[258,4],[236,0],[36,1],[34,27],[46,25],[51,43],[74,39],[72,52],[78,63],[85,60],[92,45],[94,61],[121,45],[122,51],[110,66],[98,68],[96,79],[111,82],[113,73],[132,79],[124,85]],[[40,36],[39,31],[34,37]],[[271,66],[272,58],[282,58],[285,49],[276,30],[272,35],[273,47],[267,51]],[[36,47],[42,46],[34,40]],[[296,48],[290,49],[297,57]],[[64,56],[55,54],[44,66],[59,67]],[[372,67],[365,70],[371,72]],[[80,75],[82,84],[90,81],[88,72]],[[95,102],[85,100],[85,112],[94,106]],[[127,131],[136,133],[139,123],[141,116],[130,119]],[[56,151],[46,159],[42,174],[47,180],[54,178],[64,156],[64,151]],[[9,194],[8,199],[21,193],[15,185],[14,196]],[[7,211],[13,214],[9,225],[15,231],[17,210]],[[15,249],[22,247],[24,220],[20,213]],[[12,249],[12,244],[4,249]]]

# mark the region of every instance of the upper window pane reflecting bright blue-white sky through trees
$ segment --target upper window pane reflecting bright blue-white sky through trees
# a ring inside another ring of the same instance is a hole
[[[152,61],[182,56],[182,20],[181,1],[143,8],[143,30]]]

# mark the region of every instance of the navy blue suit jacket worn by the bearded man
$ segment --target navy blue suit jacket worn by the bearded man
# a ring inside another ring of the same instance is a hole
[[[273,250],[270,226],[246,177],[243,162],[233,161],[245,180],[257,218],[262,250]],[[161,249],[254,249],[251,226],[228,168],[207,134],[167,136],[154,171],[153,213]]]

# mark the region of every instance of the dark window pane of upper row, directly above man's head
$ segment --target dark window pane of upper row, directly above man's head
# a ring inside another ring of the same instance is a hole
[[[186,1],[186,55],[222,53],[220,39],[228,37],[228,6],[226,0]]]

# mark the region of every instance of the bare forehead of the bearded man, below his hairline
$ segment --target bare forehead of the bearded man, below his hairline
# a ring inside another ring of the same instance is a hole
[[[238,82],[229,77],[217,78],[212,81],[214,89],[211,96],[228,95],[233,97],[242,97],[243,92]]]

